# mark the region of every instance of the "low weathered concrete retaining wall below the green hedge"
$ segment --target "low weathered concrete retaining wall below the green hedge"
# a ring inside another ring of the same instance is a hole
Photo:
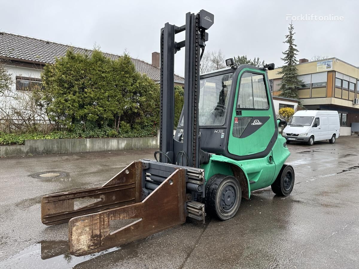
[[[158,148],[157,137],[25,140],[25,145],[0,146],[0,156],[26,156]]]

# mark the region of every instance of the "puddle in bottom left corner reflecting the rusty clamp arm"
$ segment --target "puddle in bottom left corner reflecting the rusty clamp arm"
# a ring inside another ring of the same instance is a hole
[[[119,249],[121,247],[113,247],[98,253],[76,257],[69,254],[67,241],[41,241],[4,261],[0,261],[0,268],[68,269]]]

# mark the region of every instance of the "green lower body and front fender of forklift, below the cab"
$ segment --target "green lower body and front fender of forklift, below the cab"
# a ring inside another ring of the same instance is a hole
[[[251,191],[270,186],[278,176],[285,160],[290,155],[288,148],[283,146],[284,143],[285,138],[278,135],[270,153],[257,159],[237,161],[222,155],[211,155],[209,163],[201,165],[201,168],[205,170],[206,182],[215,174],[233,175],[229,164],[236,165],[242,169],[247,178],[248,197],[250,197]],[[250,184],[250,181],[255,181],[255,183]]]

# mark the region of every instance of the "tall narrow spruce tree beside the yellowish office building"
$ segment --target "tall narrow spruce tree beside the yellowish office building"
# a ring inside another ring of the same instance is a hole
[[[288,49],[285,52],[282,52],[284,57],[281,58],[284,61],[285,65],[282,66],[282,70],[279,71],[278,75],[283,75],[283,79],[280,83],[280,96],[287,97],[287,98],[298,98],[298,89],[300,88],[300,84],[302,81],[297,78],[298,70],[295,67],[295,64],[298,63],[297,58],[295,57],[298,55],[297,52],[297,45],[294,44],[294,34],[293,30],[293,23],[291,22],[288,27],[289,34],[285,36],[286,40],[283,43],[288,44]]]

